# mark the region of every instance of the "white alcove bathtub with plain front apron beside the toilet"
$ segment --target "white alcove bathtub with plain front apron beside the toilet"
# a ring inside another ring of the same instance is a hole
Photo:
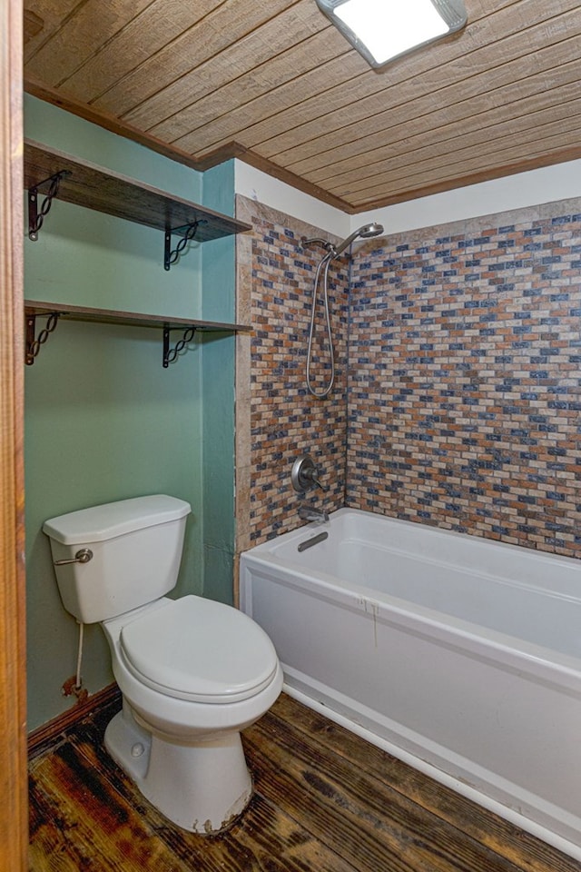
[[[581,859],[581,560],[341,509],[242,554],[241,609],[292,695]]]

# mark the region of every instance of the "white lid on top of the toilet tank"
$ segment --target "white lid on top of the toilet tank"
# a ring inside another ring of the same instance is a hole
[[[103,542],[133,530],[179,520],[191,510],[190,503],[184,500],[155,494],[70,511],[66,515],[45,520],[43,530],[47,536],[63,545]]]

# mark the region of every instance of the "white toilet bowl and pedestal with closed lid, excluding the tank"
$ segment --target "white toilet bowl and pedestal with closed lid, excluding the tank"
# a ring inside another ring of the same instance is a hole
[[[102,625],[123,693],[105,748],[143,796],[192,832],[220,832],[246,807],[240,731],[281,692],[271,640],[244,618],[187,596]]]

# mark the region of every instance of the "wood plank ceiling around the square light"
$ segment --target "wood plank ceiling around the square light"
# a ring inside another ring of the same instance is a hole
[[[25,87],[349,213],[581,157],[579,0],[466,6],[464,31],[376,72],[315,0],[26,0]]]

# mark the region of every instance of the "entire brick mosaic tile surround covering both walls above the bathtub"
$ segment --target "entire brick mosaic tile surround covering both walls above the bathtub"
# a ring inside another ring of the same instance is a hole
[[[300,523],[291,465],[310,452],[330,485],[310,500],[329,510],[581,556],[581,202],[372,240],[350,275],[342,259],[326,401],[304,389],[321,250],[300,236],[327,234],[242,198],[238,215],[254,226],[239,320],[256,328],[239,365],[240,550]]]

